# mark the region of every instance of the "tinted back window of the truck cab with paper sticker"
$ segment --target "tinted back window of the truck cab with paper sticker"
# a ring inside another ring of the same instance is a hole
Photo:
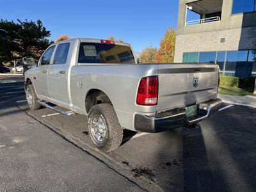
[[[81,43],[78,63],[135,63],[135,60],[129,46]]]

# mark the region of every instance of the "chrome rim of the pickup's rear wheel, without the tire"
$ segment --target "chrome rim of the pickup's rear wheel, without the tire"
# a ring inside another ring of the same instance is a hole
[[[104,117],[102,115],[93,115],[90,127],[93,139],[97,143],[104,143],[108,138],[108,127]]]

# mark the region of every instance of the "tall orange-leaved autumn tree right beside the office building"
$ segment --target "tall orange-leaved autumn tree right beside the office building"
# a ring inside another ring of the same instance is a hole
[[[174,60],[176,33],[174,28],[168,28],[157,50],[157,63],[172,63]]]

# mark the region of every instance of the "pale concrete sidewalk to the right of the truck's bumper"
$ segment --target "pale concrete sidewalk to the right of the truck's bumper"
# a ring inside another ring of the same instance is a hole
[[[223,94],[218,94],[218,98],[222,100],[222,102],[226,102],[229,104],[235,104],[239,106],[249,106],[252,108],[256,108],[256,96],[232,96],[232,95],[223,95]]]

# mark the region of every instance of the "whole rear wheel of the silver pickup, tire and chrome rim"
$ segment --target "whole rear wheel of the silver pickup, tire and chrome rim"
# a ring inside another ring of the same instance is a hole
[[[90,109],[88,132],[92,143],[104,152],[115,150],[120,146],[123,129],[111,104],[97,104]]]

